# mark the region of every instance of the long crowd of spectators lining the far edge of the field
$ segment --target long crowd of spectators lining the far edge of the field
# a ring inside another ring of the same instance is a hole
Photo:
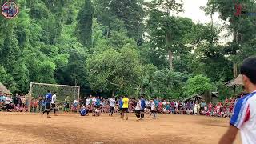
[[[118,113],[120,108],[120,101],[122,98],[115,99],[114,113]],[[213,117],[226,117],[230,118],[233,113],[234,104],[237,99],[230,98],[224,102],[206,103],[203,100],[201,102],[180,102],[169,101],[166,99],[154,98],[146,99],[145,112],[150,113],[150,106],[154,102],[155,112],[161,114],[189,114],[189,115],[206,115]],[[23,94],[5,94],[0,91],[0,111],[14,111],[14,112],[27,112],[28,99]],[[32,98],[30,105],[30,112],[42,112],[45,108],[45,102],[43,97]],[[90,97],[81,98],[70,102],[69,98],[65,98],[64,102],[57,104],[57,111],[77,112],[78,106],[86,106],[89,113],[95,110],[100,110],[101,113],[109,113],[110,111],[110,98]],[[135,111],[136,100],[130,98],[129,112]]]

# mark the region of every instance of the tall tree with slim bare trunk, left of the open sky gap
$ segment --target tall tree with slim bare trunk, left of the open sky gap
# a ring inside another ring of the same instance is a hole
[[[183,50],[186,44],[190,43],[188,39],[193,33],[194,23],[192,20],[170,16],[170,12],[181,10],[182,4],[175,1],[159,0],[150,3],[149,20],[147,21],[150,42],[154,49],[162,54],[162,59],[165,59],[168,54],[170,70],[173,69],[174,54]]]

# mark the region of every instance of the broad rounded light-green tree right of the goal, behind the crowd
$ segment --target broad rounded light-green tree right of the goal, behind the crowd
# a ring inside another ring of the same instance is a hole
[[[109,49],[94,54],[86,61],[88,80],[93,90],[134,94],[141,74],[138,52],[128,48],[120,52]]]

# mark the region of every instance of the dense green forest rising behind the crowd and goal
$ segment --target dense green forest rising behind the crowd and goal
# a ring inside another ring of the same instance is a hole
[[[4,0],[0,0],[1,3]],[[218,90],[256,54],[256,7],[208,0],[226,21],[202,24],[178,17],[175,0],[16,0],[16,18],[0,17],[0,82],[27,93],[30,82],[78,85],[82,94],[145,94],[181,98]],[[222,29],[233,40],[223,45]]]

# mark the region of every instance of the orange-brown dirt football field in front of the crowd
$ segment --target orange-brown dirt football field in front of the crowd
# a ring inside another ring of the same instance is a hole
[[[146,114],[147,117],[148,114]],[[81,117],[58,114],[0,113],[0,143],[218,143],[228,126],[228,118],[158,114],[158,119],[137,122],[118,115]],[[235,143],[241,143],[237,138]]]

